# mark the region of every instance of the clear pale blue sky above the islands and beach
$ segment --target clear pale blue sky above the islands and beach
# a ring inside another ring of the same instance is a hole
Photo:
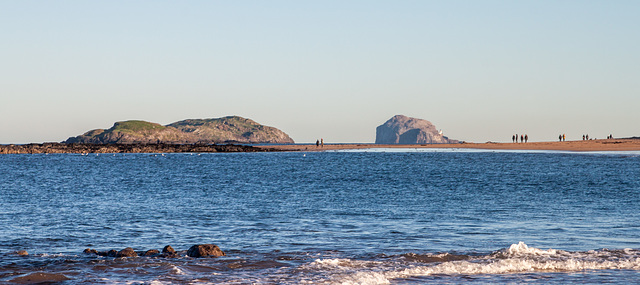
[[[373,142],[640,135],[640,1],[0,1],[0,143],[239,115]]]

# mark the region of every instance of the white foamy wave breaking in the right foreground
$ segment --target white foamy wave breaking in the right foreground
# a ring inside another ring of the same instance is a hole
[[[409,256],[410,258],[406,258]],[[529,247],[523,242],[479,256],[444,254],[404,255],[408,262],[318,259],[309,266],[333,270],[333,284],[390,284],[394,279],[434,275],[520,274],[585,270],[640,270],[634,249],[570,252]],[[427,260],[425,265],[424,260]]]

